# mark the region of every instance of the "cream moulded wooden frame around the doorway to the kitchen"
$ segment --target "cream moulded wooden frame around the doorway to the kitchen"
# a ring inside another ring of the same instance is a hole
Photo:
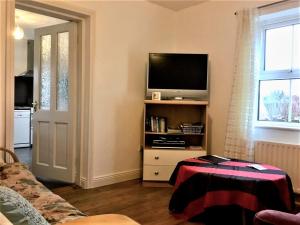
[[[11,5],[13,1],[9,1]],[[94,75],[94,49],[95,49],[95,17],[93,10],[76,7],[73,4],[61,1],[41,2],[38,0],[15,0],[15,8],[30,12],[40,13],[59,19],[69,20],[78,24],[78,66],[77,66],[77,90],[78,112],[77,132],[74,140],[75,152],[75,182],[83,188],[92,187],[93,178],[93,75]],[[12,10],[11,10],[12,11]],[[14,28],[14,13],[7,19],[7,29]],[[13,37],[8,34],[6,56],[13,59]],[[13,146],[13,104],[14,104],[14,75],[13,60],[6,61],[6,129],[7,143]]]

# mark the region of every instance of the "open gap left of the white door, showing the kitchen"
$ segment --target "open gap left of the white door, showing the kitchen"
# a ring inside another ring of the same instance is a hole
[[[20,161],[32,169],[34,34],[37,29],[67,23],[66,20],[15,9],[14,149]]]

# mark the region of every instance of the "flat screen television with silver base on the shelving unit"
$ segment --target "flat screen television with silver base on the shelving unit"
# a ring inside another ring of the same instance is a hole
[[[149,53],[147,97],[208,98],[208,54]]]

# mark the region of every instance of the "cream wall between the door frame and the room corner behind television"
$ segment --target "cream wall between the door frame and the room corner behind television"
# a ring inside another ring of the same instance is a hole
[[[93,185],[102,185],[140,172],[147,57],[174,50],[175,13],[144,1],[76,4],[96,11]]]

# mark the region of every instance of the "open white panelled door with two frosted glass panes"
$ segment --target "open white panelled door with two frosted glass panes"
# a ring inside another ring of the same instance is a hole
[[[75,181],[76,23],[35,30],[32,170]]]

